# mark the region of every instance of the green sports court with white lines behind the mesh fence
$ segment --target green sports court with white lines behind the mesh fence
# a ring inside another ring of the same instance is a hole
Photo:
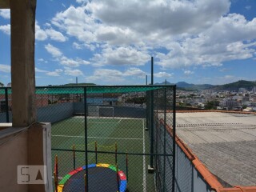
[[[86,122],[85,122],[86,120]],[[85,137],[87,128],[87,140]],[[150,153],[149,132],[145,130],[144,118],[95,118],[74,116],[52,125],[52,148],[88,150],[88,163],[95,163],[95,142],[98,151],[113,152],[117,146],[118,153],[128,153],[128,168],[126,169],[126,154],[118,154],[118,166],[128,172],[129,191],[155,191],[154,174],[148,174],[149,157],[142,154]],[[73,152],[53,150],[58,155],[58,179],[70,172],[74,167]],[[135,155],[136,154],[136,155]],[[141,154],[141,155],[138,155]],[[98,154],[98,162],[114,163],[115,154]],[[54,155],[53,155],[54,161]],[[75,167],[86,165],[85,153],[76,152]],[[90,185],[90,183],[89,183]]]

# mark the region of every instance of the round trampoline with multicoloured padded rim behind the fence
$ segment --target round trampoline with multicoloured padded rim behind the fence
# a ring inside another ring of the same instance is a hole
[[[85,174],[86,166],[72,170],[58,183],[58,192],[85,191]],[[90,192],[125,192],[126,186],[126,174],[118,169],[117,179],[116,166],[102,163],[88,165],[88,188]]]

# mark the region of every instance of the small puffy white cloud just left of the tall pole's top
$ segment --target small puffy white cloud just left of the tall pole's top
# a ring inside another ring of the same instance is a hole
[[[146,51],[136,50],[132,47],[118,47],[116,49],[107,47],[101,54],[94,54],[91,62],[94,66],[143,66],[150,60]]]

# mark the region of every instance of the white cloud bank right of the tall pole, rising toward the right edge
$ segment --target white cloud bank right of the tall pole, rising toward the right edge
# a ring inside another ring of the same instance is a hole
[[[222,62],[254,57],[256,18],[228,14],[197,37],[170,42],[168,54],[157,53],[163,68],[186,66],[222,66]]]

